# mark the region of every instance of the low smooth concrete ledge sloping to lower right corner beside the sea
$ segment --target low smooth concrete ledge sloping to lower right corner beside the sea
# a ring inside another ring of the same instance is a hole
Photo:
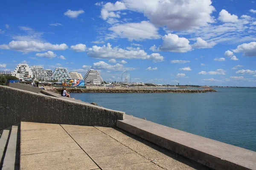
[[[256,170],[256,152],[126,115],[117,127],[216,170]]]

